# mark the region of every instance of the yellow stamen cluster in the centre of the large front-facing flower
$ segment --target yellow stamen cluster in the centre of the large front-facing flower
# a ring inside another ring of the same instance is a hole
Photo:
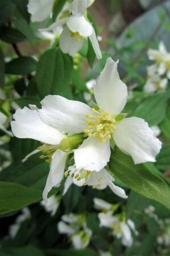
[[[109,112],[103,112],[101,109],[92,109],[92,112],[92,114],[86,115],[88,129],[84,129],[84,133],[89,137],[98,138],[101,142],[111,139],[111,134],[115,129],[115,119],[111,117]]]

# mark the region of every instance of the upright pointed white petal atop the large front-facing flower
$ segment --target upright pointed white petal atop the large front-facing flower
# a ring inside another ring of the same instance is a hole
[[[119,78],[117,63],[110,57],[94,85],[94,96],[100,109],[113,115],[121,113],[127,101],[127,86]]]

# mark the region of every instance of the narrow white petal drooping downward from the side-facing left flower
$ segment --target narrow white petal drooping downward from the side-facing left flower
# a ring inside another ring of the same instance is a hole
[[[52,161],[50,164],[50,170],[43,191],[44,203],[48,203],[47,195],[53,187],[59,187],[61,180],[64,176],[65,162],[67,160],[67,154],[61,150],[56,150],[52,156]]]

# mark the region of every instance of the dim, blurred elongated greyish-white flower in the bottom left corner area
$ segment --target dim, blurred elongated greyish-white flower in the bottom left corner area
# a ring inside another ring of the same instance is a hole
[[[22,222],[28,220],[31,217],[30,209],[29,208],[23,208],[21,210],[21,214],[16,218],[15,223],[10,226],[9,228],[9,236],[11,238],[14,238],[16,234],[18,233],[18,230],[20,228],[20,225]]]

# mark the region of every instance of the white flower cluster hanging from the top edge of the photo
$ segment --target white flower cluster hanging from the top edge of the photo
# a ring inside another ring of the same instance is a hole
[[[74,56],[75,53],[82,48],[84,39],[89,38],[97,58],[101,59],[102,55],[99,49],[96,32],[86,15],[86,9],[92,5],[93,2],[93,0],[73,0],[71,5],[67,3],[51,26],[39,30],[40,36],[44,36],[44,32],[47,31],[60,34],[60,49],[71,56]],[[53,0],[30,0],[28,2],[28,11],[31,14],[32,22],[42,22],[49,18],[52,13],[53,3]],[[65,14],[65,11],[68,10],[69,13]],[[45,34],[45,37],[46,36]]]

